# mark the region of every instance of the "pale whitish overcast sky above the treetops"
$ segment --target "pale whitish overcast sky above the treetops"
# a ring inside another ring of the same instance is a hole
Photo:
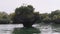
[[[60,0],[0,0],[0,11],[12,13],[16,7],[23,4],[33,5],[35,10],[40,13],[50,13],[54,10],[60,10]]]

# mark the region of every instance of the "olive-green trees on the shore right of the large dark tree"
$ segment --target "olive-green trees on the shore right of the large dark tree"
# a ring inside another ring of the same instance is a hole
[[[43,13],[40,15],[41,16],[41,20],[44,23],[60,23],[60,10],[55,10],[52,11],[50,14],[48,13]]]

